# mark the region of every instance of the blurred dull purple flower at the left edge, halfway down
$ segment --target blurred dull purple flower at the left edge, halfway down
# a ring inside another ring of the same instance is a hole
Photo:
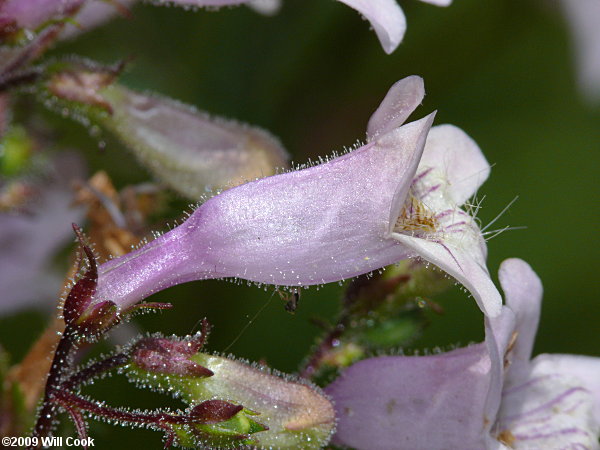
[[[85,176],[77,154],[57,155],[33,189],[26,213],[0,213],[0,314],[31,306],[54,306],[64,274],[51,270],[56,251],[72,238],[71,223],[84,211],[72,206],[70,181]]]

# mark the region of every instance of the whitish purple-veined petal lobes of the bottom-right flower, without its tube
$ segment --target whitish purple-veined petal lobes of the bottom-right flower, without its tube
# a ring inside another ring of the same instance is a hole
[[[600,358],[543,354],[530,361],[542,286],[521,260],[500,268],[516,324],[492,434],[517,449],[600,448]]]

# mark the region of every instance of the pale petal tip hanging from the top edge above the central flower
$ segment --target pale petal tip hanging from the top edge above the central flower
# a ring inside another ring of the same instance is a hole
[[[338,0],[362,14],[371,24],[386,53],[392,53],[406,32],[406,17],[396,0]],[[448,6],[452,0],[421,0]]]

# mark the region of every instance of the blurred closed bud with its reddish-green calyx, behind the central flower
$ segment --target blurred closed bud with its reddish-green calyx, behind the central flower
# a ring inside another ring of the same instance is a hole
[[[61,110],[110,130],[158,180],[193,200],[288,166],[266,131],[120,86],[114,78],[121,68],[55,63],[45,92]]]

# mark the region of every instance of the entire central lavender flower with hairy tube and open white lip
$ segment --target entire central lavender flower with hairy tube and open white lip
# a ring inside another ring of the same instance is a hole
[[[127,307],[174,284],[220,277],[323,284],[419,256],[496,315],[501,298],[485,269],[485,243],[459,207],[489,167],[454,127],[428,139],[433,114],[400,126],[423,95],[419,77],[399,81],[371,117],[367,144],[229,189],[148,245],[102,264],[96,301]]]

